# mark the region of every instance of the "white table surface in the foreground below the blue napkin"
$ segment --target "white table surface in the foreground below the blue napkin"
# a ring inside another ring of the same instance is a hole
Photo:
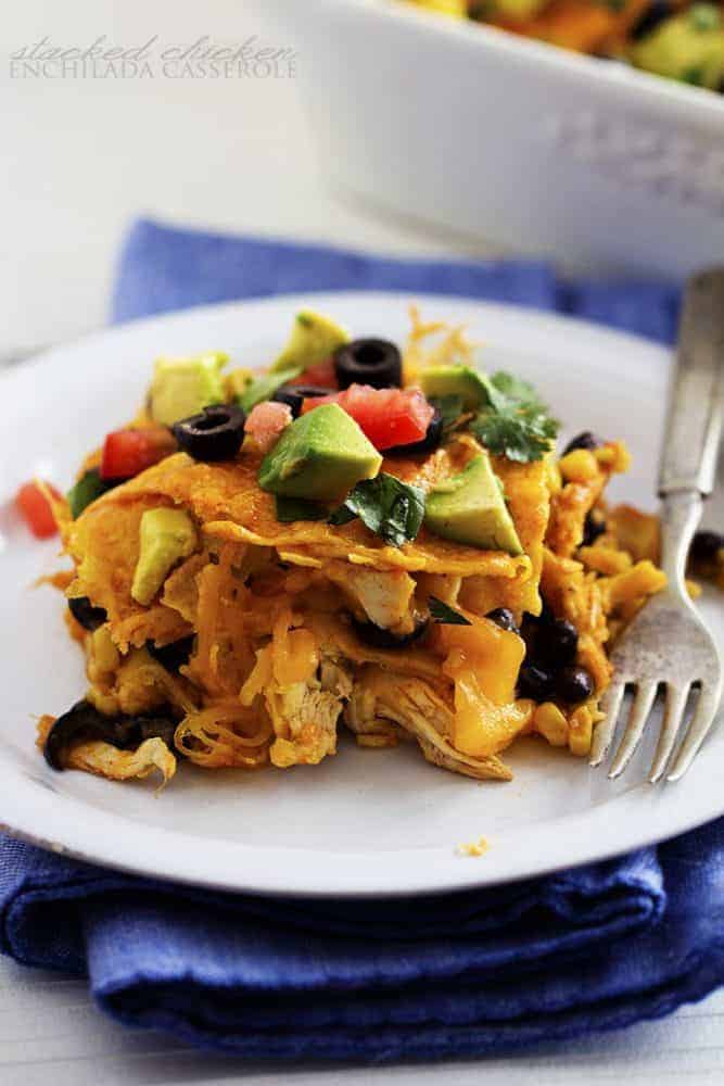
[[[82,982],[20,969],[0,958],[3,1086],[655,1086],[724,1082],[724,994],[660,1022],[542,1046],[508,1059],[406,1066],[244,1065],[101,1016]]]

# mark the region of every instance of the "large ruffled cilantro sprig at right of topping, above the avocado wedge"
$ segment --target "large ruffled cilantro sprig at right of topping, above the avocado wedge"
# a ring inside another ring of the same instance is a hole
[[[528,381],[510,374],[483,377],[488,404],[472,419],[470,429],[497,456],[528,464],[548,452],[558,422]]]

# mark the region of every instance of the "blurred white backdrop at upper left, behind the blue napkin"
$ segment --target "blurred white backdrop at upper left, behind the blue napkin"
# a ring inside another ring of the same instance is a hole
[[[128,47],[158,35],[158,49],[204,35],[219,45],[255,34],[265,45],[290,45],[265,35],[262,7],[2,0],[0,354],[104,323],[118,244],[139,214],[366,249],[481,252],[480,243],[380,219],[330,193],[299,80],[10,74],[9,54],[46,35],[75,47],[101,34]],[[312,59],[299,64],[313,74]]]

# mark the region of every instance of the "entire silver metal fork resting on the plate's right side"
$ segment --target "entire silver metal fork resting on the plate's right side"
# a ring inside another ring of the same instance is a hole
[[[703,498],[714,485],[723,413],[724,268],[714,268],[694,276],[687,285],[670,392],[659,478],[661,565],[669,584],[649,599],[617,643],[611,654],[613,682],[601,702],[606,717],[594,732],[590,765],[599,766],[611,745],[625,689],[634,686],[610,778],[619,776],[628,765],[661,686],[665,703],[649,770],[651,783],[664,774],[679,735],[683,740],[666,780],[683,776],[719,707],[722,659],[691,604],[684,576]],[[697,689],[686,728],[687,703]]]

